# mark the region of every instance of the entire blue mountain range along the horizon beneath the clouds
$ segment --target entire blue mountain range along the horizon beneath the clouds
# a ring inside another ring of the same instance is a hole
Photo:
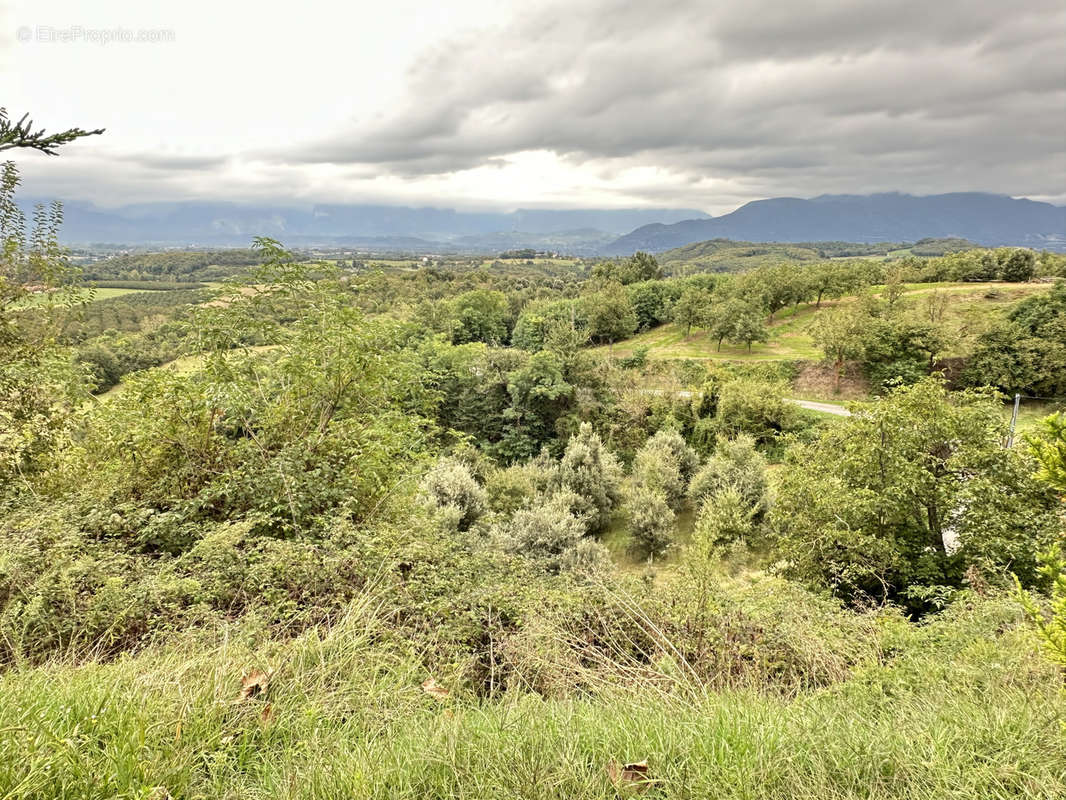
[[[709,217],[693,209],[519,209],[472,212],[381,205],[269,206],[64,204],[63,240],[247,245],[270,236],[293,246],[491,253],[514,247],[574,255],[660,253],[693,242],[902,242],[959,237],[984,245],[1066,250],[1066,207],[1007,195],[836,194],[774,197]]]

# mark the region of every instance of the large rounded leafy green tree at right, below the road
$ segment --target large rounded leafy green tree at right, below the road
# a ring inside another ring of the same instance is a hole
[[[1030,457],[1004,449],[996,398],[927,378],[858,403],[792,448],[772,518],[788,572],[852,603],[920,613],[1010,569],[1023,582],[1059,529],[1054,497]]]

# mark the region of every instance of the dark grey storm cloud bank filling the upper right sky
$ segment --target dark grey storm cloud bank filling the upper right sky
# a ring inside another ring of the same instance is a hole
[[[392,114],[276,158],[419,176],[546,149],[765,193],[1062,195],[1064,42],[1062,0],[565,3],[442,42]]]

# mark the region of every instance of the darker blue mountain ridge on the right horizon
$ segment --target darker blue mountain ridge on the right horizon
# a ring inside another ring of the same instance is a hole
[[[774,197],[722,217],[644,225],[611,242],[603,253],[661,253],[709,239],[898,242],[928,237],[1066,250],[1066,207],[982,192]]]

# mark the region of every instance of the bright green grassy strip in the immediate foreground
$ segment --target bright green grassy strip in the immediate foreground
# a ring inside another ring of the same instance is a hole
[[[604,765],[647,759],[644,797],[1062,798],[1066,692],[1014,614],[875,615],[867,666],[810,692],[675,670],[555,699],[435,697],[367,596],[286,642],[232,629],[5,672],[0,797],[614,798],[635,788]],[[270,682],[242,701],[253,670]]]

